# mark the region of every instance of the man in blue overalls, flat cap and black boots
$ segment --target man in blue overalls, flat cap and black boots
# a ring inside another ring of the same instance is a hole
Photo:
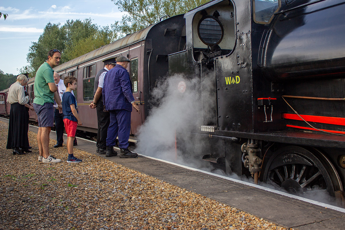
[[[117,156],[114,150],[116,137],[119,137],[120,158],[135,158],[137,153],[128,150],[130,134],[130,117],[132,106],[140,113],[135,103],[132,82],[127,71],[129,59],[124,56],[116,58],[116,66],[109,70],[103,83],[103,102],[105,110],[110,113],[110,124],[107,134],[106,157]]]

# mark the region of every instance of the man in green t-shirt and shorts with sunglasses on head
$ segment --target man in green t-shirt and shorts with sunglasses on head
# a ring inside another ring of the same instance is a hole
[[[35,76],[33,108],[36,111],[38,119],[37,142],[40,155],[39,161],[43,163],[57,163],[61,159],[49,154],[49,133],[54,124],[54,100],[58,108],[62,111],[60,97],[57,92],[58,87],[54,82],[54,71],[52,68],[59,65],[61,52],[57,49],[48,52],[48,59],[40,68]]]

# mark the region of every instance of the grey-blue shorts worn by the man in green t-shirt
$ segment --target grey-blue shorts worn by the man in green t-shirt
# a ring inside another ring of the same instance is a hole
[[[33,109],[37,114],[38,127],[53,127],[54,126],[54,107],[53,103],[40,104],[33,103]]]

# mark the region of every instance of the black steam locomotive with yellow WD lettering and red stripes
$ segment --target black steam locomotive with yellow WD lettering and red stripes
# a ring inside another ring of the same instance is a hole
[[[179,146],[193,151],[188,134],[227,173],[344,202],[345,1],[214,0],[184,17],[186,50],[168,56],[169,73],[213,76],[215,106]]]

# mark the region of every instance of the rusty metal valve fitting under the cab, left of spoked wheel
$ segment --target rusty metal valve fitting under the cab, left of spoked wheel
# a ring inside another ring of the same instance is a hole
[[[256,155],[261,152],[258,143],[256,143],[254,139],[248,139],[247,143],[242,144],[241,151],[243,152],[242,162],[244,167],[252,174],[254,183],[258,184],[259,172],[261,171],[260,164],[262,163],[262,159]]]

